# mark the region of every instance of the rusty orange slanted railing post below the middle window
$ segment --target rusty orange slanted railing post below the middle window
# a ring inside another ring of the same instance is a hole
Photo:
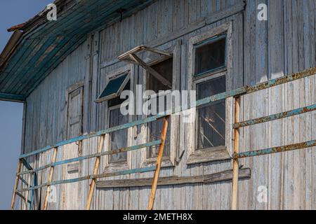
[[[148,210],[152,210],[154,207],[154,197],[156,195],[157,190],[157,183],[160,174],[160,169],[162,167],[162,156],[164,154],[164,143],[166,141],[166,132],[168,129],[168,118],[169,116],[164,118],[164,126],[162,127],[162,143],[159,146],[159,152],[157,156],[157,163],[156,163],[156,171],[154,172],[154,180],[152,181],[152,191],[150,193],[150,202],[148,204]]]

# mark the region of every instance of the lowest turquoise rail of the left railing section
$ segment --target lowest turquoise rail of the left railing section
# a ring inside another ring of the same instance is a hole
[[[34,186],[31,188],[24,188],[24,189],[17,190],[17,192],[22,193],[22,192],[25,192],[27,190],[36,190],[39,188],[43,188],[45,186],[53,186],[53,185],[58,185],[58,184],[63,184],[63,183],[74,183],[74,182],[79,182],[79,181],[86,181],[89,179],[98,179],[98,178],[105,178],[105,177],[110,177],[110,176],[121,176],[121,175],[127,175],[127,174],[152,172],[155,169],[156,169],[156,166],[151,166],[151,167],[143,167],[143,168],[137,168],[137,169],[129,169],[129,170],[113,172],[113,173],[88,175],[88,176],[82,176],[82,177],[75,178],[75,179],[67,179],[67,180],[53,181],[51,183],[44,183],[44,184],[41,184],[39,186]]]

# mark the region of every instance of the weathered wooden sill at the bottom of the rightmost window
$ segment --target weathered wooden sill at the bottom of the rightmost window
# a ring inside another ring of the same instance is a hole
[[[199,149],[190,155],[187,159],[187,165],[194,165],[203,162],[214,162],[221,160],[230,160],[230,154],[225,146],[218,146],[216,148]]]

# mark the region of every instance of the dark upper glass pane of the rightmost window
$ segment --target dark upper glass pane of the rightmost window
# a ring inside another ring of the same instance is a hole
[[[225,66],[226,38],[195,46],[195,76]]]

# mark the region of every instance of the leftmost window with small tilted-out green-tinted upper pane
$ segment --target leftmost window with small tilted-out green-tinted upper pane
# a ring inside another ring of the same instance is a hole
[[[104,111],[106,119],[103,128],[117,127],[131,122],[131,116],[121,113],[121,104],[126,99],[120,99],[123,90],[131,90],[133,79],[131,78],[131,66],[120,67],[110,71],[105,76],[106,85],[95,102],[100,104],[100,110]],[[104,107],[103,107],[104,106]],[[105,150],[116,151],[131,145],[131,128],[118,130],[105,134]],[[108,155],[104,159],[105,169],[103,172],[117,172],[129,169],[130,152]]]

